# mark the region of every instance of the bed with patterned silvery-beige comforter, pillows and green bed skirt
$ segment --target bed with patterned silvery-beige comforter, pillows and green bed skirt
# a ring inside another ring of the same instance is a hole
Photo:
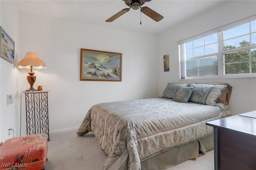
[[[108,156],[104,170],[166,169],[213,149],[206,122],[231,115],[231,89],[169,83],[159,98],[96,104],[77,134],[94,133]]]

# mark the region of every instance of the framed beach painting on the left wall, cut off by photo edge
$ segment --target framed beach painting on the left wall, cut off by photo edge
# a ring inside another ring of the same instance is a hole
[[[12,38],[4,31],[3,27],[1,29],[1,58],[14,63],[14,41]]]

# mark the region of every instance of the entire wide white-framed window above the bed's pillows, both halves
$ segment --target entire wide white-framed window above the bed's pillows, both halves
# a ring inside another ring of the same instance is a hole
[[[255,16],[180,41],[178,46],[181,79],[256,76]]]

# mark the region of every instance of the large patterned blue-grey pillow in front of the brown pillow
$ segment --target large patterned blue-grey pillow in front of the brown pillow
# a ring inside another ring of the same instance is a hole
[[[216,101],[227,85],[190,84],[190,87],[195,87],[191,94],[190,102],[215,106]]]

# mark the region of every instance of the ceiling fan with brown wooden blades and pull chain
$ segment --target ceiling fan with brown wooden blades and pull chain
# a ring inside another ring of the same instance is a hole
[[[112,21],[116,20],[117,18],[119,18],[120,16],[122,16],[123,14],[128,12],[131,8],[134,10],[138,10],[140,8],[140,11],[143,14],[152,18],[156,22],[158,22],[164,18],[163,16],[161,16],[154,10],[148,8],[147,6],[142,7],[142,5],[145,4],[145,2],[149,2],[151,0],[123,0],[123,1],[127,6],[129,6],[129,8],[125,8],[125,9],[119,11],[118,13],[114,14],[112,17],[108,18],[108,20],[106,20],[106,22],[112,22]]]

